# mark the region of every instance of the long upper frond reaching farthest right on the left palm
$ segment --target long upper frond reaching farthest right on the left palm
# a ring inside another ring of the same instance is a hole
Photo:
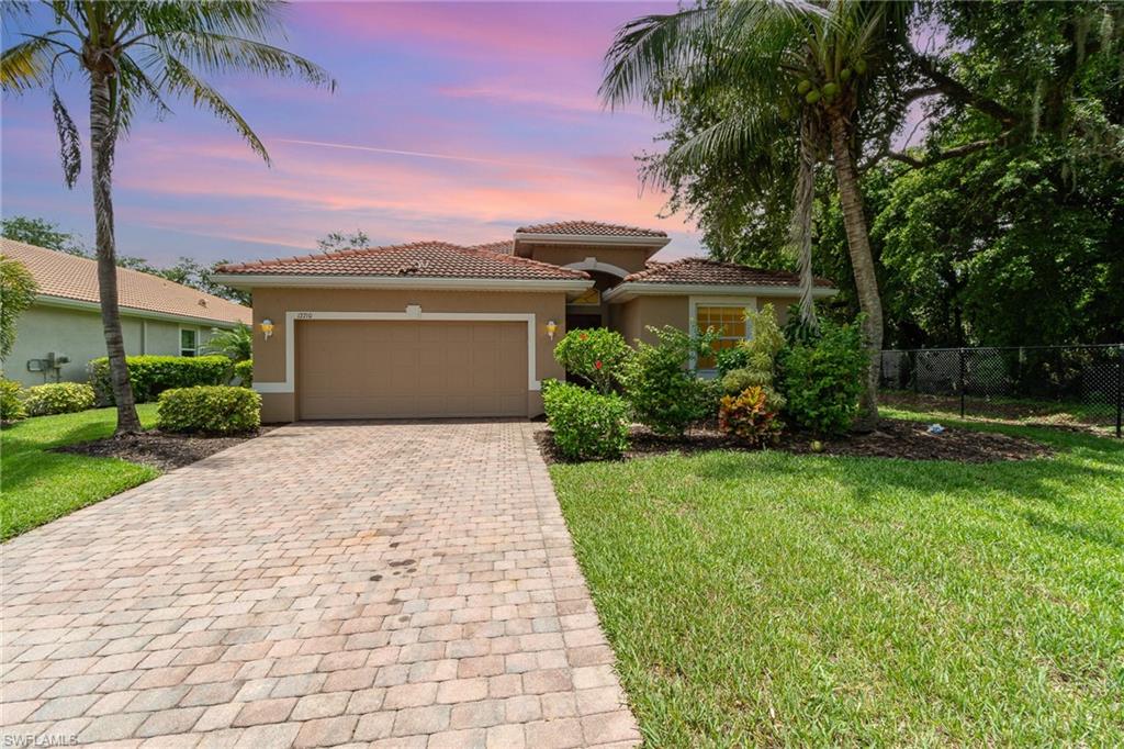
[[[312,61],[254,39],[210,31],[176,30],[154,35],[151,42],[201,73],[248,72],[299,78],[332,90],[336,87],[332,75]]]

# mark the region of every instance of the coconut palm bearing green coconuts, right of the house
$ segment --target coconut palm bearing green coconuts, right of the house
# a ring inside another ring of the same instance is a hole
[[[855,115],[870,71],[905,44],[906,3],[742,0],[707,3],[626,24],[606,55],[601,96],[671,111],[685,96],[726,101],[723,116],[676,145],[672,163],[752,159],[758,179],[796,164],[790,244],[800,265],[801,318],[812,304],[812,206],[816,164],[831,156],[871,366],[861,424],[878,417],[882,305],[855,165]],[[777,153],[795,143],[796,157]],[[791,179],[791,175],[789,175]]]

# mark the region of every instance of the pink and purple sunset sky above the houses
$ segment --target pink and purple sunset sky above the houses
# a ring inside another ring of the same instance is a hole
[[[212,79],[273,159],[227,125],[172,103],[118,145],[118,252],[156,264],[314,251],[328,232],[372,244],[507,238],[525,224],[592,219],[662,228],[660,258],[703,254],[664,196],[641,191],[635,156],[662,126],[637,107],[605,111],[605,51],[625,21],[673,3],[297,2],[285,46],[336,79]],[[35,30],[44,19],[22,29]],[[7,47],[16,38],[6,28]],[[84,134],[80,75],[60,92]],[[93,243],[89,173],[67,190],[46,93],[2,102],[0,214],[55,222]],[[83,141],[84,144],[84,141]],[[88,161],[88,152],[83,153]]]

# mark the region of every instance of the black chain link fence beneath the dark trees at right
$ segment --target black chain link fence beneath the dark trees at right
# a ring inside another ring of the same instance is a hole
[[[883,351],[881,398],[1122,436],[1124,343]]]

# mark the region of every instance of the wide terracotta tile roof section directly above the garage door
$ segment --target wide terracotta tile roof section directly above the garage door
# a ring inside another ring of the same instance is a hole
[[[342,250],[318,255],[279,258],[225,265],[224,273],[292,276],[387,276],[409,278],[482,278],[570,281],[584,271],[447,242],[414,242],[386,247]]]

